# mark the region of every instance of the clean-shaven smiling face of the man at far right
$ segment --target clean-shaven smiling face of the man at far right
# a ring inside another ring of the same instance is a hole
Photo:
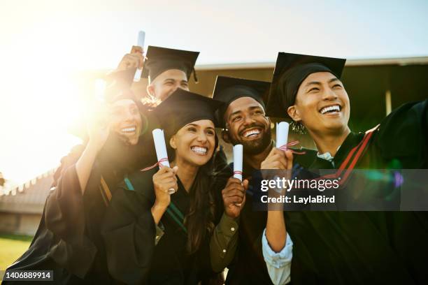
[[[333,74],[311,73],[301,82],[288,114],[294,121],[301,121],[309,133],[341,134],[348,129],[349,97]]]

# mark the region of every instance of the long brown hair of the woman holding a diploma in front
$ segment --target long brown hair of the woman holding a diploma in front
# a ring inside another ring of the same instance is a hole
[[[169,138],[168,140],[169,141]],[[197,176],[194,179],[190,194],[190,209],[185,216],[185,226],[187,228],[187,252],[194,254],[207,234],[214,228],[215,203],[212,187],[214,184],[214,153],[218,146],[217,134],[215,134],[215,146],[213,156],[210,160],[199,167]],[[174,149],[166,144],[168,157],[172,161],[175,159]]]

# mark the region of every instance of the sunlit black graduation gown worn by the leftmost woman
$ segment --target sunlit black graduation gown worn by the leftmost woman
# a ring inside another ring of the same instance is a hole
[[[74,147],[55,172],[55,189],[46,200],[34,240],[8,270],[54,270],[57,284],[113,282],[108,275],[101,221],[124,173],[143,161],[155,161],[146,137],[141,136],[136,146],[125,147],[110,136],[97,156],[83,196],[75,165],[85,147]],[[101,177],[105,187],[101,187]]]

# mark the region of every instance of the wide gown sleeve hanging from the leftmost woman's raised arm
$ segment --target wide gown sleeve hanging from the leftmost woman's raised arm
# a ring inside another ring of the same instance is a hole
[[[76,173],[76,162],[84,146],[74,147],[61,160],[45,204],[45,227],[55,235],[50,256],[69,272],[83,278],[92,268],[97,247],[87,237],[83,196]],[[92,176],[99,174],[94,173]],[[99,179],[97,180],[99,181]]]

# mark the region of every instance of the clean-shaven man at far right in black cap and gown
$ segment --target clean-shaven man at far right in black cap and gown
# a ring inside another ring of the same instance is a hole
[[[344,64],[345,59],[280,52],[268,114],[304,126],[318,147],[310,168],[340,168],[341,182],[353,169],[426,169],[428,100],[406,103],[376,128],[354,133],[348,127],[349,97],[340,80]],[[394,184],[380,185],[366,176],[364,183],[357,181],[362,193],[375,193],[386,203],[399,194]],[[405,178],[401,187],[412,182]],[[427,284],[426,212],[371,210],[379,212],[288,212],[287,232],[295,249],[293,282]]]

